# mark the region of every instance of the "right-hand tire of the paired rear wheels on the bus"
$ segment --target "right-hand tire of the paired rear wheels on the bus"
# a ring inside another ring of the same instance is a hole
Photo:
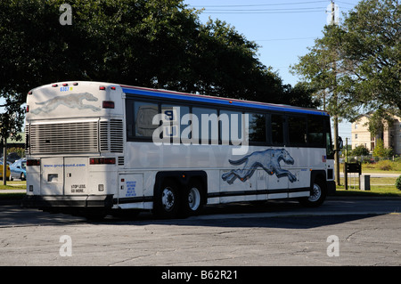
[[[203,207],[203,186],[198,180],[189,183],[184,193],[184,215],[198,215]]]

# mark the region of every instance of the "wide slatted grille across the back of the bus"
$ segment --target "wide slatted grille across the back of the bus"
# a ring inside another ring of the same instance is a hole
[[[31,154],[96,152],[98,122],[31,124],[26,148]]]

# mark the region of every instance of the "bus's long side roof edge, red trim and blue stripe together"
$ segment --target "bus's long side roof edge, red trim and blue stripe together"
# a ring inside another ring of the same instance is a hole
[[[273,110],[273,111],[275,110],[275,111],[298,112],[304,114],[329,116],[329,113],[324,110],[300,108],[290,105],[266,103],[259,101],[245,101],[245,100],[230,99],[225,97],[215,97],[203,94],[180,93],[175,91],[151,89],[151,88],[131,86],[131,85],[120,85],[120,86],[124,93],[133,93],[133,94],[140,94],[143,96],[166,98],[169,100],[199,101],[199,102],[219,104],[222,106],[229,106],[229,107],[241,107],[241,108],[245,107],[257,110]]]

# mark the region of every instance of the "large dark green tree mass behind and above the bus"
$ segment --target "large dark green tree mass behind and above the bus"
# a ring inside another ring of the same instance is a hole
[[[64,3],[0,2],[4,119],[23,118],[30,89],[67,80],[315,105],[258,61],[258,45],[224,21],[202,24],[183,0],[70,0],[72,24],[61,25]]]

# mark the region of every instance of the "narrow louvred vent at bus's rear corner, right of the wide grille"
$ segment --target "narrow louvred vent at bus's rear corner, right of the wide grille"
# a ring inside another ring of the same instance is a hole
[[[110,119],[100,122],[100,149],[115,153],[123,152],[123,122]]]

